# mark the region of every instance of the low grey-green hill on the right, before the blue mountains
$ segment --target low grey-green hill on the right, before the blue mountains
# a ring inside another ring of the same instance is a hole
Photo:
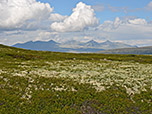
[[[111,49],[100,51],[104,54],[139,54],[139,55],[152,55],[152,46],[148,47],[136,47],[136,48],[123,48],[123,49]]]

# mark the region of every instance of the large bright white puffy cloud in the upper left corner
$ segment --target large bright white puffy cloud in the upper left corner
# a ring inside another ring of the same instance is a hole
[[[25,21],[42,20],[50,16],[53,8],[36,0],[1,0],[0,28],[20,28]]]

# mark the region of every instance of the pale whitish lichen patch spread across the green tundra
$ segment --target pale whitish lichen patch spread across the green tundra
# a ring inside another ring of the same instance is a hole
[[[79,83],[91,84],[97,91],[106,90],[106,88],[116,84],[126,88],[129,95],[146,91],[147,85],[152,86],[152,64],[109,61],[106,59],[94,62],[76,59],[53,61],[45,62],[45,65],[39,67],[38,65],[30,66],[30,64],[29,61],[22,63],[19,65],[22,71],[14,70],[11,72],[12,76],[70,78]],[[33,78],[29,79],[29,83],[33,82]],[[35,89],[39,88],[35,87]],[[40,89],[45,88],[41,87]],[[55,90],[67,89],[56,87]]]

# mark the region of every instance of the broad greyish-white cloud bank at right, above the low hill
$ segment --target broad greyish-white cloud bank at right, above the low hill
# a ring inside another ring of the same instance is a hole
[[[114,21],[105,21],[101,24],[94,36],[108,35],[106,38],[113,41],[125,41],[130,44],[149,45],[152,36],[152,24],[142,18],[120,19],[117,17]],[[145,43],[136,43],[136,41],[147,41]],[[133,42],[134,41],[134,42]]]

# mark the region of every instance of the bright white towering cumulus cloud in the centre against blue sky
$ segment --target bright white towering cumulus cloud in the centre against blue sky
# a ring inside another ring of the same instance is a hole
[[[95,17],[91,6],[79,2],[73,13],[63,22],[54,22],[51,29],[58,32],[82,31],[87,27],[95,26],[99,20]]]

